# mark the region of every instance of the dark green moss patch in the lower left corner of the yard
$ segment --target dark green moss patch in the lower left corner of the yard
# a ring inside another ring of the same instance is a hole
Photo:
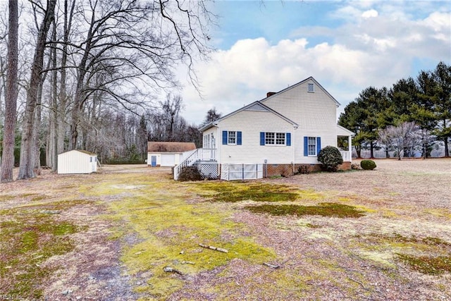
[[[51,207],[59,208],[59,204]],[[43,213],[36,207],[3,210],[0,216],[4,217],[0,223],[0,275],[8,279],[1,293],[40,300],[44,297],[42,281],[58,269],[43,263],[52,256],[72,251],[75,244],[70,234],[81,231],[82,227],[58,221],[55,214]]]

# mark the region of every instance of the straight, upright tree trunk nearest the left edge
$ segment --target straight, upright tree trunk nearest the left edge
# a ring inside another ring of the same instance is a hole
[[[14,134],[16,129],[16,109],[18,94],[18,1],[9,0],[8,16],[8,75],[6,78],[5,125],[3,158],[1,160],[2,183],[13,180]]]

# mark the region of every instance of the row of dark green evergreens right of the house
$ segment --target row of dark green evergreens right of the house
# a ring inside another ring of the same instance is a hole
[[[450,156],[451,66],[440,62],[416,78],[401,79],[392,87],[367,87],[345,107],[338,124],[356,133],[357,156],[375,149],[401,156],[431,156],[434,147]]]

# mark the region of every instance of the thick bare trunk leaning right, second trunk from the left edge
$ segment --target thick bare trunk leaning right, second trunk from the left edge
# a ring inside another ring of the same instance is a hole
[[[27,90],[27,104],[25,106],[25,122],[23,126],[22,141],[20,143],[20,168],[18,179],[35,178],[34,154],[33,154],[33,128],[35,127],[35,109],[38,97],[39,83],[41,82],[41,71],[44,63],[44,49],[47,42],[47,32],[54,20],[56,0],[47,1],[47,11],[37,35],[35,56],[30,75],[30,87]]]

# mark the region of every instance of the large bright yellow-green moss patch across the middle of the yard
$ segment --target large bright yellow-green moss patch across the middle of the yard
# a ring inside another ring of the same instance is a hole
[[[116,175],[113,190],[128,183],[128,179],[127,175],[123,178]],[[133,183],[135,188],[128,189],[127,196],[119,192],[123,197],[109,202],[109,208],[110,218],[121,225],[111,234],[112,238],[123,241],[121,261],[127,266],[128,274],[135,278],[133,282],[141,283],[135,287],[135,292],[163,300],[183,288],[184,278],[163,271],[165,266],[184,275],[194,275],[225,266],[233,259],[262,264],[276,258],[273,250],[262,247],[245,234],[248,230],[244,224],[230,219],[233,215],[230,209],[212,202],[202,206],[186,202],[192,197],[187,189],[205,193],[206,183],[168,185],[167,179],[143,176],[135,178]],[[198,190],[198,185],[202,189]],[[246,190],[245,185],[239,186],[236,190]],[[111,183],[99,184],[97,192],[109,191],[111,187]],[[209,197],[219,197],[228,190],[221,185],[216,188],[220,192],[211,189]],[[206,249],[199,244],[228,252]]]

